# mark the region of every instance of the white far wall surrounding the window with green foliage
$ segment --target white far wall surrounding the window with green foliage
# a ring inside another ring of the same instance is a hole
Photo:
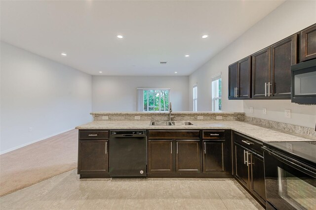
[[[137,111],[137,88],[170,88],[173,111],[188,111],[188,76],[93,76],[92,111]]]

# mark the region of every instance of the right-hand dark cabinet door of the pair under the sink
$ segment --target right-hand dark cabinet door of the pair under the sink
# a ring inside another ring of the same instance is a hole
[[[199,140],[176,141],[176,172],[200,172]]]

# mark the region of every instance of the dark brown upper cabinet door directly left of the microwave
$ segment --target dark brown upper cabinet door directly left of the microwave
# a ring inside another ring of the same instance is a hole
[[[271,96],[291,98],[291,65],[297,63],[297,35],[271,46]]]

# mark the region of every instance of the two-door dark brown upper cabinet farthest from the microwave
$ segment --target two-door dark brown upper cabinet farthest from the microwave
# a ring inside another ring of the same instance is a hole
[[[251,56],[233,63],[229,71],[229,93],[228,98],[250,98],[251,97]]]

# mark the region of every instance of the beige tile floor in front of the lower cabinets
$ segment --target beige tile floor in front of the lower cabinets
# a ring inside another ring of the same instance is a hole
[[[82,179],[77,170],[0,198],[0,209],[263,210],[234,179]]]

